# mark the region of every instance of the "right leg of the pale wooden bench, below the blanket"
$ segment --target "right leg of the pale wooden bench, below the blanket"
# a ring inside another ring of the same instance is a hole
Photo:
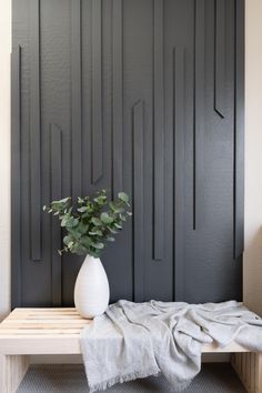
[[[233,353],[231,364],[249,393],[262,393],[262,353]]]

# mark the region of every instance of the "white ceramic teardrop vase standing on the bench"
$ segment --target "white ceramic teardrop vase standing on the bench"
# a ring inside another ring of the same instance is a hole
[[[83,318],[103,314],[109,304],[109,282],[99,258],[87,255],[74,285],[74,304]]]

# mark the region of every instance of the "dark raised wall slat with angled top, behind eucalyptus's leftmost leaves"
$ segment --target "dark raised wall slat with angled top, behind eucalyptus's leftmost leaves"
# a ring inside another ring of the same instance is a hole
[[[61,129],[54,124],[50,124],[50,150],[51,150],[51,200],[61,199],[62,193],[62,132]],[[62,303],[62,269],[61,256],[58,250],[61,249],[61,228],[59,220],[52,216],[51,230],[52,243],[52,305],[58,306]]]

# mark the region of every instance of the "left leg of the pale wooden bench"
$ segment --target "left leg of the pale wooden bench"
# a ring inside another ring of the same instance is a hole
[[[13,393],[29,366],[29,356],[0,354],[0,392]]]

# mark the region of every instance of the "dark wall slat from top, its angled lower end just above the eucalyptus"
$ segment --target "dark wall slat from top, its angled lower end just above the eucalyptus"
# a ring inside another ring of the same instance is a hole
[[[103,174],[102,137],[102,2],[92,0],[92,183]]]

